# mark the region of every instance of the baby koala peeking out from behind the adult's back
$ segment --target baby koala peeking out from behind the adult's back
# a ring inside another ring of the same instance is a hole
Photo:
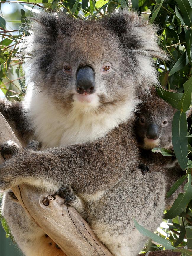
[[[155,88],[152,88],[150,92],[149,95],[140,95],[141,103],[133,125],[140,150],[139,168],[145,172],[149,171],[150,164],[161,166],[160,171],[163,169],[167,174],[168,191],[172,184],[184,175],[184,171],[180,168],[175,156],[163,156],[159,152],[152,152],[151,149],[160,147],[173,151],[172,121],[177,110],[160,98]],[[190,111],[187,115],[189,114]],[[184,184],[166,199],[166,209],[171,207],[180,192],[184,192]]]

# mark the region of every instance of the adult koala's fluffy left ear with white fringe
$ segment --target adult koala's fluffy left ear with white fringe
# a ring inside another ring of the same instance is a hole
[[[67,15],[55,12],[42,12],[31,18],[31,35],[22,43],[22,54],[30,56],[31,70],[49,72],[59,31],[62,30],[63,35],[66,33],[68,20]]]

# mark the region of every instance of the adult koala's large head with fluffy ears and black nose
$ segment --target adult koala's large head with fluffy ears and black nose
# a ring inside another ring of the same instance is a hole
[[[137,90],[157,83],[153,57],[165,58],[155,28],[128,11],[88,21],[42,12],[23,51],[33,87],[81,112],[129,109]]]

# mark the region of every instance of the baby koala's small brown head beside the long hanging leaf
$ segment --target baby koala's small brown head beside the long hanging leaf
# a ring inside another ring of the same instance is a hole
[[[172,121],[176,109],[159,98],[155,91],[143,98],[136,114],[135,131],[139,146],[144,149],[172,146]]]

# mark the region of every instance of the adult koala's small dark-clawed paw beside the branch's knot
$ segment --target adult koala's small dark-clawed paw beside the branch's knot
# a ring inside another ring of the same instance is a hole
[[[57,192],[61,198],[64,198],[65,204],[77,208],[79,206],[80,198],[75,194],[71,187],[62,188]]]

